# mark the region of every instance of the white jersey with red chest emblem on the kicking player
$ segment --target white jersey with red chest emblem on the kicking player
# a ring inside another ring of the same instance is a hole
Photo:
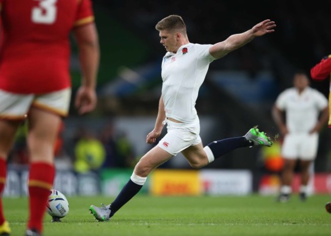
[[[183,123],[197,119],[199,88],[215,58],[211,44],[182,45],[177,53],[167,52],[162,61],[162,98],[166,116]]]

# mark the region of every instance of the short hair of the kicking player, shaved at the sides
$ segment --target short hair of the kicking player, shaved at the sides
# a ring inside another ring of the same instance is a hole
[[[186,25],[179,15],[170,15],[163,18],[155,25],[157,31],[167,30],[167,31],[178,31],[186,35]]]

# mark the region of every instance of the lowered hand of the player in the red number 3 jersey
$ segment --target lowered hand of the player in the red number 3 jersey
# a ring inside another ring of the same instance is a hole
[[[79,114],[85,114],[94,110],[97,104],[97,95],[93,88],[80,86],[76,98],[75,107]]]

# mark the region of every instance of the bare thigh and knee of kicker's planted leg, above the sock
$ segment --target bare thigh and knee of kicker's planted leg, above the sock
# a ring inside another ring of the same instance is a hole
[[[141,177],[146,177],[156,167],[171,159],[173,155],[164,151],[159,146],[154,146],[147,152],[134,167],[134,173]]]

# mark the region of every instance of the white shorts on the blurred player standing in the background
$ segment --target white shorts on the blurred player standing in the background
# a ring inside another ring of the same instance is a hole
[[[318,133],[287,134],[282,146],[282,156],[286,159],[312,161],[316,158]]]

